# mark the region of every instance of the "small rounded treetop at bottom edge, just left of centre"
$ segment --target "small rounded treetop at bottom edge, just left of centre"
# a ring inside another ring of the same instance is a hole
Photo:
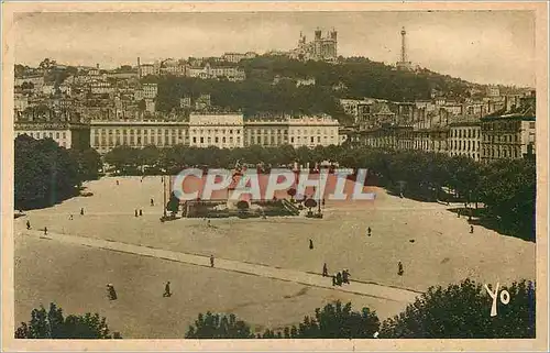
[[[238,320],[233,313],[228,317],[208,311],[206,315],[199,313],[198,319],[195,320],[195,326],[189,326],[185,338],[253,339],[254,334],[251,332],[250,326],[242,320]]]

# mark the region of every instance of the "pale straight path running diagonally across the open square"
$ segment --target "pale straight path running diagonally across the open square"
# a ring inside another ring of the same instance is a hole
[[[48,232],[44,235],[43,231],[24,231],[22,235],[48,239],[64,243],[85,245],[89,247],[103,249],[128,254],[150,256],[155,258],[168,260],[185,264],[210,267],[210,258],[208,256],[194,255],[187,253],[173,252],[162,249],[153,249],[148,246],[120,243],[95,238],[85,238],[67,234],[58,234]],[[372,283],[353,282],[349,285],[332,286],[332,278],[322,277],[320,274],[312,274],[301,271],[271,267],[260,264],[244,263],[233,260],[216,258],[213,269],[223,269],[241,274],[255,275],[260,277],[274,278],[279,280],[298,283],[312,287],[329,288],[333,290],[346,291],[356,295],[374,297],[399,302],[413,302],[420,294],[417,291],[387,287]]]

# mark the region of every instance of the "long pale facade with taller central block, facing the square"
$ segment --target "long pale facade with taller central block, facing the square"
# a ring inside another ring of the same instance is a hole
[[[339,145],[342,139],[338,121],[329,117],[244,121],[239,113],[191,113],[189,121],[95,120],[90,126],[91,146],[101,154],[119,145],[235,148],[290,144],[297,148]]]

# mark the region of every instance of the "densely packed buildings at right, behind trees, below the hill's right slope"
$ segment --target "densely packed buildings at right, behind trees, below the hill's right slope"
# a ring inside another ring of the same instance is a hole
[[[416,104],[394,103],[396,108],[391,109],[391,102],[372,101],[371,110],[363,114],[362,120],[356,120],[356,125],[349,129],[348,134],[354,145],[419,150],[481,162],[534,157],[535,92],[512,98],[515,103],[507,99],[497,106],[490,102],[490,107],[496,108],[484,110],[482,107],[480,114],[470,114],[472,110],[468,108],[472,107],[468,104],[460,106],[460,109],[454,109],[458,107],[454,104],[450,109],[443,106],[427,112],[426,107]]]

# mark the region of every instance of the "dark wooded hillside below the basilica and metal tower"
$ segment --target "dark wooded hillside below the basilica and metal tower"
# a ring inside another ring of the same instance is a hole
[[[212,104],[227,110],[257,113],[328,113],[346,120],[339,98],[378,98],[392,101],[428,100],[432,92],[455,100],[470,97],[470,89],[483,90],[466,82],[427,69],[397,71],[382,63],[362,57],[341,58],[339,64],[298,62],[284,56],[258,56],[241,60],[246,73],[240,82],[202,80],[186,77],[146,77],[157,82],[157,109],[178,110],[184,96],[210,93]],[[296,80],[314,78],[315,85],[297,87]]]

